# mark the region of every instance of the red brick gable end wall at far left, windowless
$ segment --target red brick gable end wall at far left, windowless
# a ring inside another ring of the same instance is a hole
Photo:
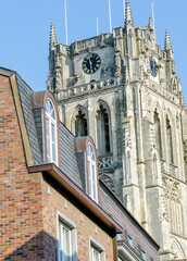
[[[14,99],[0,76],[0,260],[42,260],[41,176],[27,172]]]

